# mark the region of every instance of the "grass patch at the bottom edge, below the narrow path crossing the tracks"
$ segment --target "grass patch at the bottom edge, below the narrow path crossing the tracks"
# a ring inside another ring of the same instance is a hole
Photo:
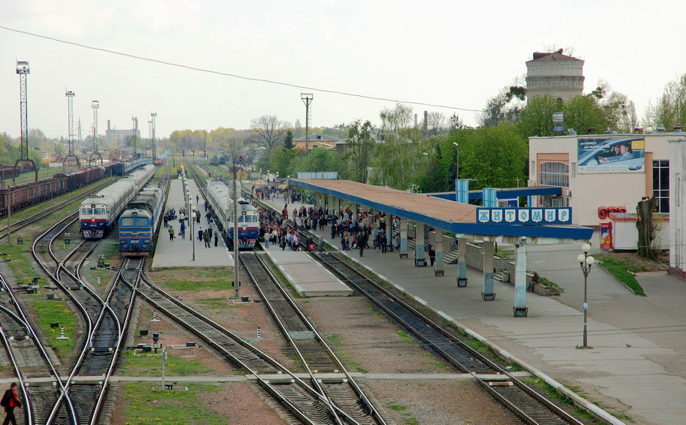
[[[150,383],[123,387],[125,425],[220,425],[230,417],[210,413],[203,404],[206,393],[222,391],[220,385],[193,384],[188,391],[154,391]]]

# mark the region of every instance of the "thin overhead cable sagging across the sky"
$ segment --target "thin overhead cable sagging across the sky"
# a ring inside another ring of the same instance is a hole
[[[421,106],[433,106],[434,108],[446,108],[446,109],[452,109],[452,110],[462,110],[462,111],[467,111],[467,112],[488,112],[485,110],[481,109],[468,109],[468,108],[458,108],[456,106],[449,106],[449,105],[440,105],[440,104],[429,104],[427,102],[420,102],[420,101],[410,101],[410,100],[398,100],[398,99],[388,99],[386,97],[376,97],[376,96],[368,96],[368,95],[361,95],[359,93],[348,93],[340,90],[329,90],[327,88],[317,88],[317,87],[309,87],[309,86],[300,86],[298,84],[292,84],[292,83],[287,83],[287,82],[281,82],[281,81],[276,81],[276,80],[267,80],[265,78],[254,78],[254,77],[246,77],[244,75],[237,75],[237,74],[232,74],[232,73],[226,73],[222,71],[213,71],[211,69],[205,69],[205,68],[198,68],[196,66],[189,66],[185,64],[179,64],[176,62],[167,62],[165,60],[158,60],[158,59],[153,59],[153,58],[146,58],[145,56],[137,56],[137,55],[132,55],[130,53],[123,53],[121,51],[115,51],[115,50],[110,50],[110,49],[103,49],[102,47],[93,47],[93,46],[88,46],[88,45],[83,45],[78,42],[73,42],[73,41],[67,41],[67,40],[61,40],[60,38],[54,38],[54,37],[49,37],[49,36],[43,36],[41,34],[35,34],[32,32],[27,32],[27,31],[21,31],[20,29],[14,29],[10,27],[5,27],[3,25],[0,25],[1,29],[5,29],[10,32],[16,32],[19,34],[26,34],[27,36],[32,36],[32,37],[37,37],[37,38],[43,38],[45,40],[51,40],[55,42],[61,42],[65,45],[72,45],[72,46],[77,46],[77,47],[82,47],[84,49],[91,49],[91,50],[96,50],[96,51],[102,51],[105,53],[111,53],[113,55],[119,55],[119,56],[126,56],[127,58],[132,58],[132,59],[137,59],[137,60],[145,60],[146,62],[154,62],[157,64],[163,64],[167,66],[176,66],[178,68],[183,68],[183,69],[189,69],[191,71],[199,71],[199,72],[204,72],[204,73],[211,73],[215,75],[223,75],[225,77],[234,77],[234,78],[239,78],[241,80],[248,80],[248,81],[255,81],[255,82],[264,82],[268,84],[276,84],[279,86],[287,86],[287,87],[294,87],[298,89],[307,89],[307,90],[314,90],[322,93],[332,93],[335,95],[343,95],[343,96],[350,96],[350,97],[360,97],[362,99],[370,99],[370,100],[381,100],[381,101],[390,101],[390,102],[396,102],[399,104],[412,104],[412,105],[421,105]]]

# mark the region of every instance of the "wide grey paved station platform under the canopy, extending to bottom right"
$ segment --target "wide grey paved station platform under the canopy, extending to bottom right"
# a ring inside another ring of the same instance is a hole
[[[269,204],[283,209],[283,199]],[[289,204],[289,209],[294,206],[300,204]],[[592,242],[597,247],[595,233]],[[328,229],[316,234],[340,249]],[[431,267],[414,267],[412,258],[400,259],[397,252],[366,250],[364,258],[356,251],[344,254],[552,385],[579,387],[588,400],[637,424],[683,424],[686,282],[667,274],[643,274],[638,280],[648,296],[639,297],[593,267],[587,282],[592,348],[582,350],[577,348],[582,345],[584,299],[584,278],[576,260],[580,246],[530,245],[527,250],[527,268],[564,290],[557,297],[527,293],[528,317],[513,317],[512,284],[495,282],[496,300],[483,301],[483,275],[475,269],[468,268],[468,286],[458,288],[456,265],[447,265],[445,276],[434,276]],[[609,417],[606,422],[623,423]]]

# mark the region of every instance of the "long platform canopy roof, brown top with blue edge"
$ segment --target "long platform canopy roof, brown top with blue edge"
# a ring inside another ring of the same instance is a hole
[[[350,180],[290,179],[289,182],[294,186],[332,195],[352,204],[425,223],[458,235],[493,238],[504,236],[510,239],[527,236],[541,239],[539,243],[544,243],[543,239],[546,239],[547,243],[554,243],[562,240],[587,240],[593,234],[593,229],[580,226],[516,226],[479,223],[476,219],[477,206],[475,205]]]

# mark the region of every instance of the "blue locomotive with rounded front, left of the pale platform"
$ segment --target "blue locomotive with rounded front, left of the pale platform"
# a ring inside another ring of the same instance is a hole
[[[123,256],[146,256],[152,248],[157,223],[165,204],[159,183],[150,183],[126,206],[119,217],[119,252]]]

